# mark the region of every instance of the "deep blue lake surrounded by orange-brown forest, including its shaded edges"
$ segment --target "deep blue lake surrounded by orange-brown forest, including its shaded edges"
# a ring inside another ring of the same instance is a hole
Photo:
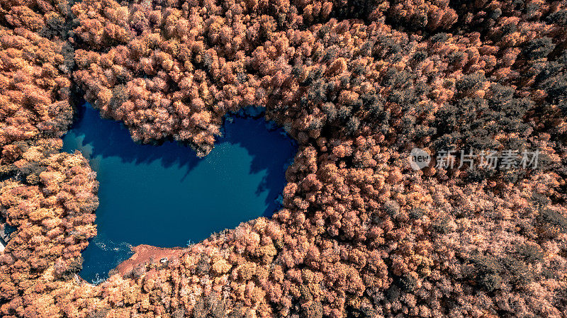
[[[79,273],[94,281],[128,259],[131,246],[186,246],[270,216],[297,147],[263,118],[232,115],[213,151],[198,158],[176,142],[137,144],[122,124],[101,119],[86,103],[63,138],[65,152],[76,149],[100,183],[98,234]]]

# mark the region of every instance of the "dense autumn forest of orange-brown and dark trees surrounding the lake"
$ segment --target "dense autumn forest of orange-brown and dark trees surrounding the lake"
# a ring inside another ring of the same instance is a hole
[[[0,46],[0,317],[566,317],[566,0],[0,0]],[[76,280],[99,205],[61,152],[82,98],[199,156],[265,107],[299,145],[283,207]]]

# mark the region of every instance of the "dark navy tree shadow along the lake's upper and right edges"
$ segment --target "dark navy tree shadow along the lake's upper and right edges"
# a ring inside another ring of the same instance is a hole
[[[255,113],[253,116],[247,115],[246,112],[232,114],[225,120],[221,131],[222,136],[215,141],[215,149],[209,156],[214,155],[218,145],[223,143],[246,149],[252,158],[249,173],[264,174],[256,195],[268,191],[266,209],[262,216],[271,217],[280,207],[277,198],[286,185],[285,171],[297,152],[295,140],[281,127],[266,122],[263,113]],[[74,125],[69,133],[73,134],[75,140],[64,143],[63,150],[66,152],[79,149],[89,159],[118,157],[123,162],[133,164],[151,164],[158,161],[164,168],[176,166],[184,171],[182,181],[204,160],[197,157],[190,147],[172,140],[164,140],[159,144],[133,142],[125,125],[116,120],[101,118],[99,110],[92,108],[89,103],[84,103],[77,109]],[[91,161],[91,164],[96,169],[96,162]]]

